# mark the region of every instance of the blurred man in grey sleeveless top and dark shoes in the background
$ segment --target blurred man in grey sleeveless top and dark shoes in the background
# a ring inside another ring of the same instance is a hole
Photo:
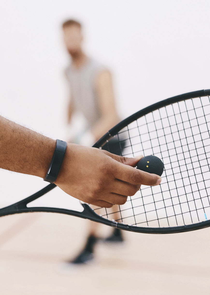
[[[112,78],[110,71],[96,60],[88,57],[83,49],[83,35],[81,24],[75,20],[63,23],[64,42],[71,56],[71,64],[66,69],[66,77],[71,88],[71,97],[68,106],[68,124],[72,126],[72,116],[77,112],[85,118],[83,126],[76,132],[71,132],[69,141],[81,145],[93,145],[104,133],[119,122],[116,112]],[[78,125],[79,122],[76,123]],[[117,140],[112,139],[103,149],[116,155],[121,155],[122,146]],[[116,208],[113,209],[114,211]],[[115,214],[115,218],[120,217]],[[94,245],[97,241],[96,231],[98,224],[90,222],[89,234],[84,249],[78,256],[69,261],[73,264],[83,264],[92,260]],[[119,229],[106,238],[106,242],[123,242]]]

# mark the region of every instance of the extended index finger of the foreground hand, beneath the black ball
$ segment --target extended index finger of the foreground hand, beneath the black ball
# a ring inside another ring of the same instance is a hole
[[[154,186],[161,183],[161,177],[156,174],[141,171],[129,165],[116,162],[115,178],[132,184]]]

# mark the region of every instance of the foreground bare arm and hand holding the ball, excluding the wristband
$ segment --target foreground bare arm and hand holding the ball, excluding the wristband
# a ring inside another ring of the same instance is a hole
[[[55,140],[0,116],[0,168],[44,178],[55,145]],[[55,184],[93,205],[124,204],[141,184],[161,181],[155,174],[133,168],[141,157],[124,158],[69,143]]]

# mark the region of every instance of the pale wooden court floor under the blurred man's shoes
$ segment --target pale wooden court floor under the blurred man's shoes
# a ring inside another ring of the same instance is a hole
[[[51,213],[0,218],[0,294],[210,294],[210,228],[124,232],[124,246],[99,243],[94,263],[64,272],[62,262],[81,248],[86,226],[86,220]],[[100,227],[101,235],[110,230]]]

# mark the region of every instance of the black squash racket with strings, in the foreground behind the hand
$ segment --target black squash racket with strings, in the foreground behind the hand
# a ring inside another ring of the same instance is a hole
[[[116,148],[123,156],[154,155],[164,163],[161,184],[141,186],[124,205],[114,205],[115,212],[112,208],[92,209],[88,204],[82,204],[83,212],[27,207],[56,186],[49,184],[28,198],[0,209],[0,216],[56,212],[144,233],[175,233],[209,227],[209,95],[210,89],[194,91],[148,106],[117,124],[95,143],[95,148],[106,146],[109,150],[114,137]],[[113,220],[116,215],[119,218]]]

